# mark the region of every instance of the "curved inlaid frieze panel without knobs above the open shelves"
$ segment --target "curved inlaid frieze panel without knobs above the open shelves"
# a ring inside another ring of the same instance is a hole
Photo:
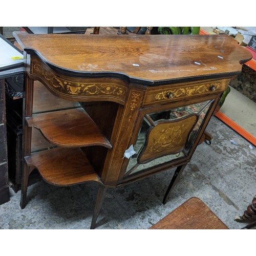
[[[53,94],[69,100],[109,100],[119,103],[125,101],[127,87],[118,79],[63,75],[38,58],[31,59],[30,74],[36,76]]]

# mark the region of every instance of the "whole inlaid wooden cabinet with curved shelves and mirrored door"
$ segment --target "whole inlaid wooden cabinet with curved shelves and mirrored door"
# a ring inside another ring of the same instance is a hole
[[[251,58],[226,35],[14,36],[26,59],[20,205],[34,168],[54,185],[97,182],[91,228],[106,188],[177,167],[165,202],[222,92]],[[51,109],[39,96],[48,109],[38,109],[38,84],[63,105]],[[34,130],[49,145],[33,150]]]

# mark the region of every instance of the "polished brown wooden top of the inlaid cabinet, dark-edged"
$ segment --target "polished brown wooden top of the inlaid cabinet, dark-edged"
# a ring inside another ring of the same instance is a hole
[[[80,75],[113,73],[134,80],[236,75],[251,58],[226,35],[27,34],[14,37],[29,54]]]

